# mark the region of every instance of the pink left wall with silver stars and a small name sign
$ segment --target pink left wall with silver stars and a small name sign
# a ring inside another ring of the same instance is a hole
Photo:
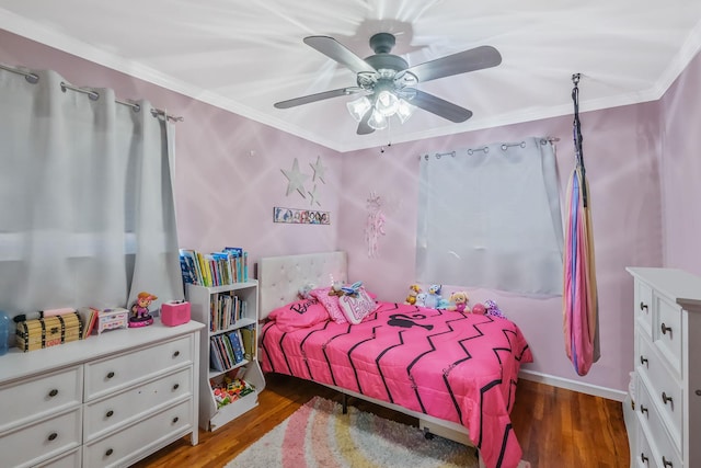
[[[252,262],[265,255],[336,248],[341,178],[336,151],[2,30],[0,61],[53,69],[72,84],[113,88],[122,100],[147,99],[184,117],[175,125],[181,247],[210,252],[241,246],[250,251]],[[332,225],[274,224],[274,206],[308,208],[310,204],[296,193],[286,195],[287,179],[280,169],[291,169],[298,158],[300,170],[311,174],[309,164],[318,156],[327,169],[325,184],[319,184],[321,206],[315,209],[331,212]]]

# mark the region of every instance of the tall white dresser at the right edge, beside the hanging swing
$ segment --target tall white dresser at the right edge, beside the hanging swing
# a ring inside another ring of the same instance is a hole
[[[631,466],[701,467],[701,277],[627,270],[635,285]]]

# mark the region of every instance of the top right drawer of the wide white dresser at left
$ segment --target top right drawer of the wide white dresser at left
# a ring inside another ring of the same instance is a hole
[[[193,361],[193,338],[145,347],[85,365],[85,401],[111,395],[139,380],[163,375]]]

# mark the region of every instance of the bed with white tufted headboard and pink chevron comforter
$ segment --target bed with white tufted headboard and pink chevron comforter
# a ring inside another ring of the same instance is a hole
[[[520,365],[532,362],[518,327],[487,315],[384,301],[338,323],[323,317],[325,303],[299,298],[310,283],[346,283],[346,267],[345,252],[261,259],[263,370],[415,416],[427,435],[474,445],[487,468],[517,467],[521,449],[509,413]]]

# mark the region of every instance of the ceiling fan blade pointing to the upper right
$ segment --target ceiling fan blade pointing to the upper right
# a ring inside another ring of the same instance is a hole
[[[492,46],[480,46],[470,50],[459,52],[435,60],[410,67],[406,71],[414,73],[418,82],[450,77],[452,75],[467,73],[468,71],[482,70],[496,67],[502,62],[502,55]]]

